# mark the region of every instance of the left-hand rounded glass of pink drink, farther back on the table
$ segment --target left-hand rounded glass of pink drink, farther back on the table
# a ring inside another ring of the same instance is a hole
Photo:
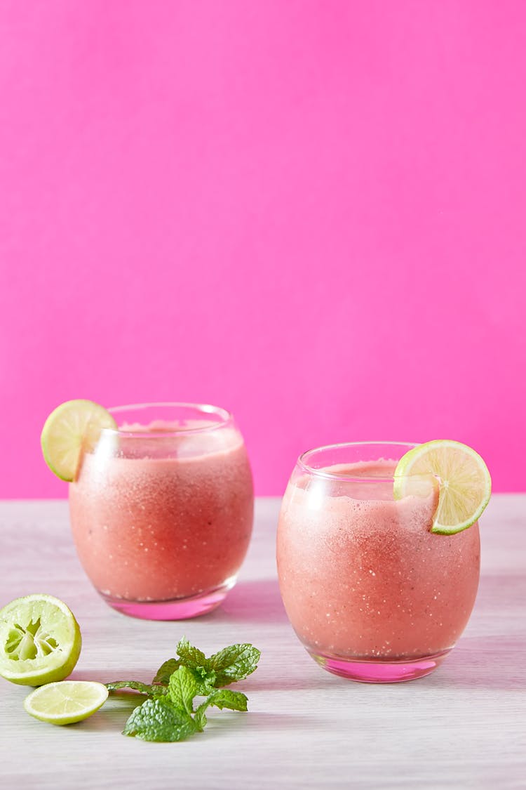
[[[254,494],[232,415],[199,404],[110,409],[69,486],[73,539],[110,606],[185,619],[218,606],[252,533]]]

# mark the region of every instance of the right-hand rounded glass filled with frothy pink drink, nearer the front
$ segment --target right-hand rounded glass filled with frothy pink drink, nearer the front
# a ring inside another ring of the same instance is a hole
[[[432,672],[468,623],[479,527],[431,532],[439,482],[394,499],[414,445],[353,442],[304,453],[285,491],[277,561],[285,610],[323,668],[368,683]]]

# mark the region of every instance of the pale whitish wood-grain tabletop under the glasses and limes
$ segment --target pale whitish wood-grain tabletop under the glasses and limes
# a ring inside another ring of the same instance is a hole
[[[183,634],[206,653],[233,641],[262,651],[238,685],[248,713],[214,710],[182,743],[121,735],[129,705],[115,699],[80,724],[43,724],[24,713],[28,689],[0,679],[0,787],[526,788],[526,495],[495,495],[483,517],[479,596],[457,648],[433,675],[389,686],[323,672],[300,646],[278,592],[278,506],[257,503],[222,608],[155,623],[93,591],[66,502],[0,502],[0,605],[29,592],[65,600],[84,641],[73,678],[148,682]]]

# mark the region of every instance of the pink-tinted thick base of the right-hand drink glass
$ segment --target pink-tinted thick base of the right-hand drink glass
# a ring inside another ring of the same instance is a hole
[[[401,683],[404,680],[423,678],[442,664],[450,652],[451,648],[442,653],[435,653],[433,656],[421,656],[412,660],[367,661],[324,656],[323,653],[308,650],[315,662],[327,672],[349,680],[357,680],[359,683]]]

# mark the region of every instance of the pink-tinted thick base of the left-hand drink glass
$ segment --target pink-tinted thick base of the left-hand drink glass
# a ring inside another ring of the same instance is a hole
[[[126,600],[105,595],[103,592],[99,592],[99,595],[110,607],[129,617],[143,620],[188,620],[191,617],[206,615],[207,612],[218,607],[235,583],[235,578],[228,579],[221,587],[188,598],[173,600]]]

